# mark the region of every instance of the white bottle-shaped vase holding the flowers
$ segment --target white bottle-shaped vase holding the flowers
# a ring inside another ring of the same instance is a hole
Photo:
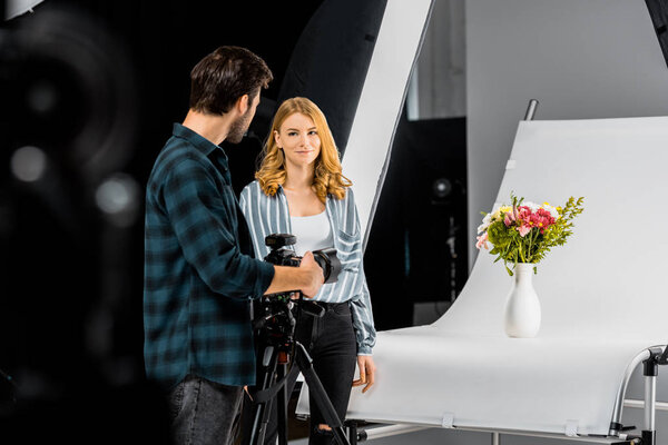
[[[505,300],[505,335],[536,337],[540,329],[540,301],[533,289],[534,264],[518,263],[513,284]]]

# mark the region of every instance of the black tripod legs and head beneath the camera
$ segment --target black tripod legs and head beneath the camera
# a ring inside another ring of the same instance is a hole
[[[315,317],[322,317],[323,308],[312,301],[305,301],[299,295],[297,305],[297,317],[302,312]],[[277,403],[278,414],[278,444],[287,445],[287,394],[285,383],[302,372],[310,394],[313,396],[318,409],[327,425],[332,428],[334,438],[340,445],[350,445],[350,441],[343,431],[343,424],[325,392],[317,374],[313,369],[313,360],[306,348],[294,338],[295,319],[292,308],[295,303],[285,298],[267,298],[263,303],[264,314],[254,322],[258,328],[261,339],[259,363],[259,387],[254,398],[253,426],[249,434],[249,445],[262,445],[265,439],[266,428],[269,421],[272,404]],[[288,364],[292,366],[288,369]],[[295,366],[296,365],[296,366]]]

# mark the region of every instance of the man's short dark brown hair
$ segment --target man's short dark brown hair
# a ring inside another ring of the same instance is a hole
[[[223,115],[244,95],[255,99],[274,76],[264,60],[240,47],[220,47],[190,71],[190,109]]]

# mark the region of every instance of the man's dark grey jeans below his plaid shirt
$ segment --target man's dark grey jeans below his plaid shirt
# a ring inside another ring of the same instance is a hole
[[[171,436],[177,445],[234,443],[243,400],[240,386],[188,375],[169,393]]]

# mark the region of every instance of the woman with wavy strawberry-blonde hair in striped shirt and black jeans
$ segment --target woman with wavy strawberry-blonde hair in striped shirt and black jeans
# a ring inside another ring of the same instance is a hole
[[[375,328],[362,265],[360,220],[350,180],[342,175],[338,150],[320,108],[306,98],[285,100],[274,117],[256,180],[242,191],[240,206],[259,258],[271,234],[293,234],[296,255],[334,247],[342,264],[338,279],[313,297],[326,309],[303,318],[296,338],[343,421],[352,386],[363,393],[374,383]],[[353,380],[355,363],[360,378]],[[292,393],[294,382],[289,383]],[[311,399],[310,444],[331,443],[331,428]],[[269,426],[266,443],[275,441]]]

